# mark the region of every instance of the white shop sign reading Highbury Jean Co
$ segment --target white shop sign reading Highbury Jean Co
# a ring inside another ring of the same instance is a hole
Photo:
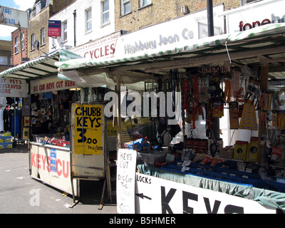
[[[215,35],[224,33],[224,19],[218,16],[222,12],[224,12],[224,5],[213,7]],[[142,28],[133,33],[127,33],[120,36],[115,57],[119,59],[131,58],[144,56],[146,53],[158,53],[187,46],[206,36],[207,26],[204,24],[207,24],[206,9],[155,26]]]

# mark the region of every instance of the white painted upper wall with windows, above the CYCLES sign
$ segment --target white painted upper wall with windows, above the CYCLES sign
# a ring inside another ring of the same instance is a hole
[[[103,1],[103,0],[102,0]],[[67,21],[68,38],[63,41],[63,27],[61,27],[62,36],[50,39],[49,51],[55,51],[58,48],[66,49],[74,47],[74,17],[73,11],[76,10],[76,46],[80,46],[89,41],[107,36],[115,31],[115,4],[114,0],[109,1],[110,22],[102,24],[102,6],[101,0],[77,0],[66,9],[59,11],[51,16],[50,20]],[[92,31],[86,32],[86,9],[92,9]]]

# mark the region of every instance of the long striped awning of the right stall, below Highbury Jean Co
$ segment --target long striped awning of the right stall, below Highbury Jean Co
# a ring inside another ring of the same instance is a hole
[[[231,54],[249,50],[259,50],[263,48],[278,48],[280,43],[284,46],[285,24],[268,24],[252,28],[247,31],[222,34],[197,40],[188,41],[187,45],[177,46],[175,48],[155,52],[154,49],[145,50],[142,55],[125,55],[120,46],[120,41],[128,36],[125,34],[120,36],[116,46],[116,53],[113,58],[103,61],[96,59],[73,59],[65,62],[56,62],[56,66],[61,71],[70,71],[80,68],[112,68],[115,66],[136,66],[142,63],[159,63],[160,61],[170,61],[182,58],[197,58],[201,56],[214,56],[221,54],[229,56]],[[277,51],[278,52],[278,51]],[[244,61],[247,56],[243,56]],[[271,57],[269,57],[271,58]],[[252,58],[250,59],[252,61]],[[217,60],[218,61],[218,60]],[[259,59],[257,59],[257,62]],[[239,60],[237,60],[239,63]],[[247,63],[244,63],[247,64]]]

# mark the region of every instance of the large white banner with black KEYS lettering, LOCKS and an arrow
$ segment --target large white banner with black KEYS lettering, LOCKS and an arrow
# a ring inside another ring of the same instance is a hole
[[[276,209],[222,192],[136,174],[135,212],[138,214],[274,214]]]

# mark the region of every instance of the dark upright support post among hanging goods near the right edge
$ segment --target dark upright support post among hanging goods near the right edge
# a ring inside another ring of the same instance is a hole
[[[269,73],[269,63],[262,63],[260,68],[260,90],[264,92],[268,89],[268,73]],[[265,161],[265,150],[266,144],[261,145],[261,136],[266,135],[266,125],[262,125],[261,114],[264,110],[259,110],[259,143],[257,145],[257,162],[259,164],[264,164]]]

